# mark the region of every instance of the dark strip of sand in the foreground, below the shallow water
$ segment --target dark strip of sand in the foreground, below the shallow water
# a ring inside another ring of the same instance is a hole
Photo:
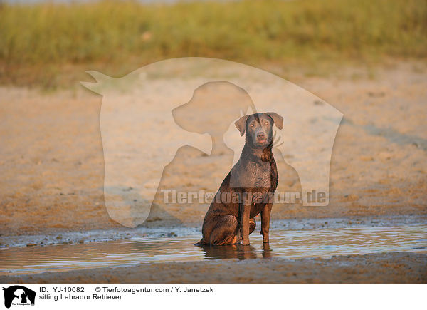
[[[153,270],[156,272],[153,272]],[[4,284],[426,284],[427,254],[224,259],[0,276]]]

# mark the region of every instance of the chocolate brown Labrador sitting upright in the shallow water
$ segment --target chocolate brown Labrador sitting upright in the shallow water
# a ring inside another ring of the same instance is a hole
[[[268,242],[273,195],[278,170],[271,149],[273,125],[283,128],[283,118],[273,112],[245,115],[235,123],[246,143],[241,157],[223,180],[209,207],[196,245],[249,244],[254,217],[261,213],[263,242]]]

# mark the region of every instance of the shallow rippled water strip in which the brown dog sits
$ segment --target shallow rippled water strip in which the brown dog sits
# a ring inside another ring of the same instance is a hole
[[[258,226],[259,228],[259,226]],[[258,229],[257,229],[258,230]],[[257,231],[251,246],[196,247],[199,234],[184,237],[135,237],[86,244],[55,244],[0,249],[0,274],[110,267],[144,262],[190,262],[203,259],[300,259],[376,252],[427,253],[427,225],[348,227],[270,232],[263,244]]]

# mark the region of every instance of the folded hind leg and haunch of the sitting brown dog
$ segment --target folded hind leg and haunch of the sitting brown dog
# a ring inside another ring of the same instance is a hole
[[[237,232],[237,218],[233,215],[223,215],[218,217],[211,231],[209,243],[211,245],[235,244],[238,242]]]

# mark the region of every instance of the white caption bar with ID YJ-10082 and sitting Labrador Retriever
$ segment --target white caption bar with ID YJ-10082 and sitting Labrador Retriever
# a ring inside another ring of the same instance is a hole
[[[19,309],[416,309],[425,285],[3,284]],[[8,307],[9,306],[9,307]],[[5,309],[5,308],[3,308]]]

